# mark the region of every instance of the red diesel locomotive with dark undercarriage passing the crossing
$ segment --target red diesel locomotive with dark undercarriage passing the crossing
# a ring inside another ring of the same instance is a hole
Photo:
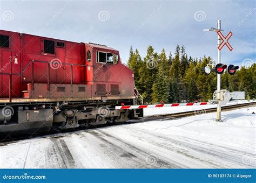
[[[124,122],[135,104],[133,71],[119,52],[93,43],[0,30],[0,133]]]

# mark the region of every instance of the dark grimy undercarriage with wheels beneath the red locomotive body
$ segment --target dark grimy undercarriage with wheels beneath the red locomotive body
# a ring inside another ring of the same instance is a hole
[[[114,106],[121,103],[133,104],[134,100],[6,103],[0,106],[0,136],[60,131],[143,117],[143,109],[116,110]]]

